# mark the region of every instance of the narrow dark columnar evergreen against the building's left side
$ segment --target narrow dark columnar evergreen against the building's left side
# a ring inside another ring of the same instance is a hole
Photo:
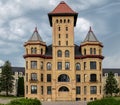
[[[18,78],[17,96],[24,96],[24,78]]]

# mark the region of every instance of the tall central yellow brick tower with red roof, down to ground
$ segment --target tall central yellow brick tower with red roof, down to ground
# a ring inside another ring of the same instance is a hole
[[[77,15],[64,1],[48,14],[52,27],[54,100],[75,100],[74,26]],[[67,92],[66,92],[67,91]],[[64,96],[63,96],[64,93]]]

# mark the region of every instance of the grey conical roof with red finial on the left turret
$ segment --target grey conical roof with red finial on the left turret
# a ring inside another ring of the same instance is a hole
[[[40,37],[38,33],[37,27],[35,27],[35,30],[28,41],[42,41],[43,42],[42,38]]]

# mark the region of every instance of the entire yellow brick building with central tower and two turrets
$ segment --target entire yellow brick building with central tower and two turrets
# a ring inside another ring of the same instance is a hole
[[[46,45],[37,28],[25,42],[25,97],[53,101],[103,97],[103,45],[91,27],[80,45],[74,43],[77,16],[62,1],[48,13],[52,44]]]

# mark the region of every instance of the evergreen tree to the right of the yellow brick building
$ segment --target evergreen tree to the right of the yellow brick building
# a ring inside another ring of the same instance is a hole
[[[114,78],[114,74],[112,72],[108,73],[108,77],[106,79],[106,84],[104,87],[104,91],[107,95],[113,95],[118,90],[117,80]]]

